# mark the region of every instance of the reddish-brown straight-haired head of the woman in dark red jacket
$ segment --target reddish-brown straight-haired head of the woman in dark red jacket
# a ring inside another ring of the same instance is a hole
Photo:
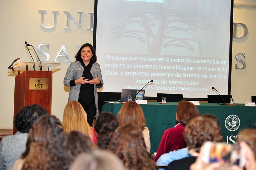
[[[177,105],[176,119],[179,123],[182,123],[184,126],[188,122],[199,116],[199,111],[197,107],[190,101],[180,101]]]

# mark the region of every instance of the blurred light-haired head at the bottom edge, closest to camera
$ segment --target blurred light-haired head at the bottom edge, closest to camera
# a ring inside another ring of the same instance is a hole
[[[80,154],[70,170],[125,170],[116,155],[108,151],[95,150]]]

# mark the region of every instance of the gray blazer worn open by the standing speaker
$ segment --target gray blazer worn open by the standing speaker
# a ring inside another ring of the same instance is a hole
[[[66,76],[64,78],[64,85],[65,86],[70,86],[69,82],[71,80],[76,80],[76,79],[81,78],[83,76],[83,72],[84,72],[84,67],[82,66],[80,61],[72,62],[70,64],[70,66],[68,67]],[[94,84],[94,99],[95,99],[95,106],[96,106],[96,117],[98,117],[99,116],[99,108],[98,108],[97,88],[100,89],[103,86],[100,64],[93,63],[92,64],[92,69],[90,70],[90,72],[92,74],[93,79],[96,78],[95,75],[97,75],[98,79],[101,82],[101,85],[95,85]],[[80,87],[81,87],[81,84],[74,85],[74,86],[70,87],[68,102],[71,101],[71,100],[78,101]]]

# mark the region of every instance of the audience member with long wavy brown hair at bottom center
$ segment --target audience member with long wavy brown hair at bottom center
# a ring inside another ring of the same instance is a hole
[[[126,170],[157,169],[147,152],[141,129],[136,124],[120,125],[110,141],[109,150],[123,161]]]

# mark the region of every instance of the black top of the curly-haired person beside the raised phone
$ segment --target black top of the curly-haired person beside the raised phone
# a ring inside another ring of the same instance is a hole
[[[189,170],[190,165],[196,162],[195,156],[172,161],[165,170]]]

